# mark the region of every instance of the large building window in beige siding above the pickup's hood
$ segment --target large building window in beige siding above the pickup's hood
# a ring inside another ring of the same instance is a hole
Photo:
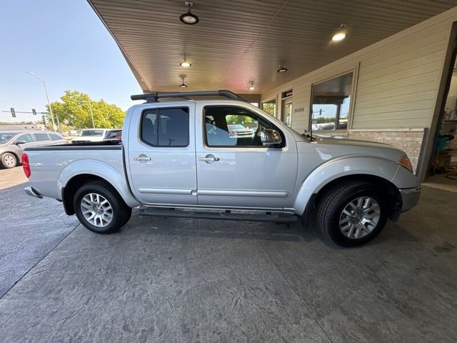
[[[316,130],[348,129],[353,72],[313,84],[311,125]]]

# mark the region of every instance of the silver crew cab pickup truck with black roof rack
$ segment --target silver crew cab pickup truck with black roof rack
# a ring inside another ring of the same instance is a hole
[[[214,95],[228,99],[189,101]],[[132,99],[146,102],[127,111],[121,144],[26,149],[25,192],[61,201],[66,214],[101,234],[140,207],[163,217],[301,219],[346,247],[373,239],[387,219],[418,203],[418,178],[393,146],[298,134],[230,91]],[[253,134],[233,134],[236,124]]]

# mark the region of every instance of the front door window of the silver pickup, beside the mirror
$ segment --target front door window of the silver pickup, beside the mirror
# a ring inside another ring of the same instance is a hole
[[[257,114],[237,106],[205,106],[207,146],[263,146],[262,129],[277,129]]]

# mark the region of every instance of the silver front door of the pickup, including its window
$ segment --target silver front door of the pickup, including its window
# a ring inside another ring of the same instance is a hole
[[[296,142],[248,104],[196,105],[199,205],[283,209],[291,206]],[[280,131],[283,145],[261,144],[261,129]],[[251,133],[248,131],[251,130]]]

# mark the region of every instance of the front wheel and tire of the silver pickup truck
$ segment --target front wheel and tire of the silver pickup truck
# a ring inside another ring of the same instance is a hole
[[[326,190],[318,202],[317,225],[342,247],[370,242],[386,225],[385,197],[368,182],[345,182]]]

